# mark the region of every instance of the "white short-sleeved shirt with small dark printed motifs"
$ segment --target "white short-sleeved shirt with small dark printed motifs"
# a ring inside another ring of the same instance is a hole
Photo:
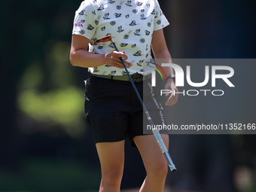
[[[85,0],[75,12],[72,34],[83,35],[95,41],[111,35],[119,51],[125,51],[127,61],[132,62],[130,75],[148,75],[152,69],[147,61],[151,60],[151,39],[154,31],[169,25],[157,0]],[[92,45],[91,53],[111,53],[111,41]],[[89,68],[96,75],[126,75],[124,69],[98,66]]]

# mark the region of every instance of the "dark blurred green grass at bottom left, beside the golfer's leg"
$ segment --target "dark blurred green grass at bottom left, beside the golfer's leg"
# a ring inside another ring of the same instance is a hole
[[[53,159],[21,161],[17,173],[0,172],[0,191],[95,192],[99,188],[100,169],[83,162]]]

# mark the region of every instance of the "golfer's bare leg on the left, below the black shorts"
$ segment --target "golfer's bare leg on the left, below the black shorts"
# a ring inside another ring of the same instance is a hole
[[[124,140],[96,144],[102,169],[99,192],[120,192],[123,177]]]

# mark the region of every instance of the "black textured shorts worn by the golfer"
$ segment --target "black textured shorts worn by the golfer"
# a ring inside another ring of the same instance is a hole
[[[150,84],[151,79],[146,81]],[[156,96],[152,99],[152,87],[148,87],[145,81],[135,85],[154,124],[163,124],[160,103],[157,103]],[[84,108],[96,143],[119,142],[127,138],[135,147],[133,137],[144,135],[143,122],[148,123],[148,119],[129,81],[90,76],[86,81]]]

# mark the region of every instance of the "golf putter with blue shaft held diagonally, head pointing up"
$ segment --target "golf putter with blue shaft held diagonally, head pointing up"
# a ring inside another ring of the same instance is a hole
[[[111,41],[113,43],[113,45],[114,45],[115,50],[119,51],[117,49],[117,46],[115,45],[114,41],[112,40],[111,35],[105,36],[103,38],[99,38],[98,40],[94,41],[94,44],[99,44],[99,43],[106,42],[106,41]],[[128,72],[125,64],[124,64],[122,57],[120,57],[120,61],[123,63],[123,67],[126,70],[126,74],[130,78],[131,84],[133,85],[133,89],[135,90],[136,95],[139,98],[139,102],[142,104],[142,108],[145,111],[146,116],[148,117],[148,121],[151,123],[151,126],[154,127],[154,123],[153,123],[153,121],[152,121],[152,119],[151,119],[151,117],[150,117],[150,115],[148,113],[147,108],[145,107],[144,103],[142,102],[142,98],[139,95],[139,92],[138,92],[135,84],[133,83],[133,79],[131,78],[131,76],[130,76],[130,74],[129,74],[129,72]],[[164,157],[166,158],[166,161],[168,163],[169,169],[171,170],[171,172],[175,172],[177,169],[176,169],[174,163],[172,162],[172,158],[170,157],[169,152],[167,151],[166,145],[164,145],[163,139],[160,136],[159,131],[157,129],[155,129],[155,130],[152,129],[152,132],[153,132],[155,138],[157,139],[157,143],[160,146],[160,149],[163,152]]]

